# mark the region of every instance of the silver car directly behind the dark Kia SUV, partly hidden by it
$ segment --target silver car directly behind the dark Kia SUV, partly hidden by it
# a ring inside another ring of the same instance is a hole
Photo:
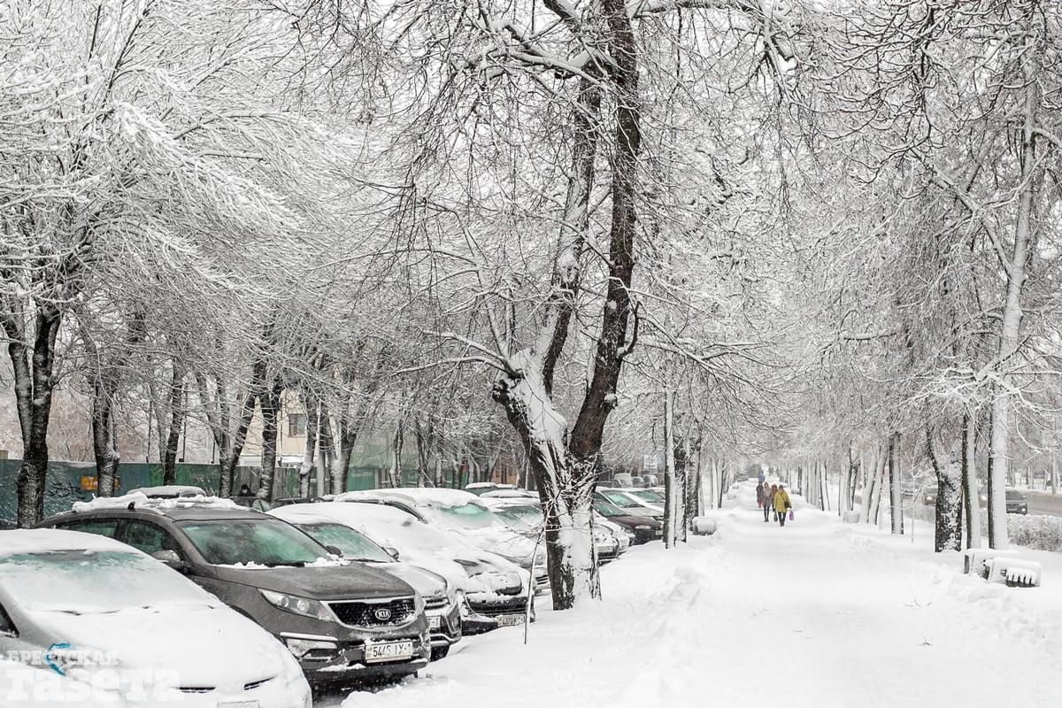
[[[457,592],[446,579],[411,563],[397,560],[360,531],[322,514],[306,512],[297,506],[277,510],[277,516],[312,536],[319,543],[339,549],[349,560],[379,568],[413,586],[424,599],[431,632],[431,660],[446,656],[452,644],[461,640],[461,611]],[[392,553],[396,553],[392,550]]]

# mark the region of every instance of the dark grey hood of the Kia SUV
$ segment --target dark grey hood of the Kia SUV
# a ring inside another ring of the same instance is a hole
[[[312,600],[386,598],[412,594],[402,580],[362,563],[319,568],[238,568],[216,566],[221,581]]]

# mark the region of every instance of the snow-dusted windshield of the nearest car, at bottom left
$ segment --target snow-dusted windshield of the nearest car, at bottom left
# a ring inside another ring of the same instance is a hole
[[[0,556],[0,585],[27,609],[72,615],[213,604],[210,595],[179,573],[129,551],[74,549]]]

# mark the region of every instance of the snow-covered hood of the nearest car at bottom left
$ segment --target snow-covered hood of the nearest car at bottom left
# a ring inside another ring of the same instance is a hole
[[[224,606],[31,615],[42,638],[68,643],[72,650],[112,655],[121,671],[145,672],[143,677],[150,685],[175,681],[176,686],[239,692],[251,681],[297,673],[276,639]]]

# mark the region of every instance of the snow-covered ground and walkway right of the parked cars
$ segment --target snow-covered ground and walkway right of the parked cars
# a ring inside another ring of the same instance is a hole
[[[780,529],[753,494],[710,538],[633,549],[602,603],[541,612],[528,646],[517,628],[466,640],[344,708],[1059,705],[1062,555],[1024,551],[1044,587],[1010,589],[933,554],[926,524],[912,543],[798,499]]]

